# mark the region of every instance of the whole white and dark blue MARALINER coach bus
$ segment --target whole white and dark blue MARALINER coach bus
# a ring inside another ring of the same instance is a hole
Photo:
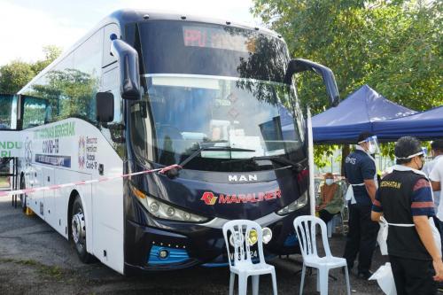
[[[307,127],[292,76],[303,71],[338,103],[330,69],[291,59],[273,31],[113,12],[19,90],[19,184],[126,176],[23,194],[22,206],[80,260],[120,274],[226,265],[221,228],[235,219],[260,223],[268,257],[298,252]]]

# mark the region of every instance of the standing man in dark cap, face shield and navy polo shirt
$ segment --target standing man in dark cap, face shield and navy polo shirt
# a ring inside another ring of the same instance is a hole
[[[349,183],[346,200],[349,207],[349,231],[344,258],[349,271],[358,254],[358,276],[368,279],[372,255],[376,249],[378,223],[371,221],[372,200],[377,190],[377,169],[372,154],[378,151],[377,136],[362,132],[355,151],[346,157],[345,175]]]

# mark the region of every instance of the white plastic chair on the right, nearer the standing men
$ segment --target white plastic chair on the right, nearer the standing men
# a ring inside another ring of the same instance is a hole
[[[322,230],[324,257],[319,257],[315,239],[316,225],[320,225]],[[303,269],[301,271],[300,295],[303,293],[305,283],[306,268],[317,268],[317,291],[320,294],[328,294],[328,278],[331,268],[345,268],[347,294],[351,294],[347,264],[344,258],[334,257],[330,254],[330,245],[326,237],[326,224],[315,216],[299,216],[294,220],[294,228],[299,239],[301,254],[303,255]]]

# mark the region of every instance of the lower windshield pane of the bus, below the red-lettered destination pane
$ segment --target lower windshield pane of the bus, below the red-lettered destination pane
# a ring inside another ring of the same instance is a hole
[[[130,108],[132,142],[142,158],[171,165],[207,144],[221,149],[201,151],[187,168],[230,171],[229,159],[301,158],[300,118],[289,85],[190,74],[144,79],[151,86]]]

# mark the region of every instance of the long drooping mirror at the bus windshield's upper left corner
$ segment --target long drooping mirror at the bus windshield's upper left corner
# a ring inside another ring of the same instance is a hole
[[[120,93],[123,99],[140,99],[140,74],[138,53],[128,43],[113,39],[111,54],[119,60]]]

